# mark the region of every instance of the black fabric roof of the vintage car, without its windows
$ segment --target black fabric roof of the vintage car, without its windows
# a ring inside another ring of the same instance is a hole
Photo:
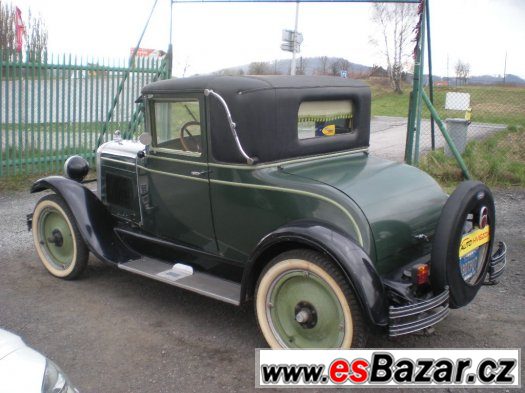
[[[202,94],[209,111],[211,153],[217,161],[245,162],[235,146],[224,108],[216,98],[204,98],[204,89],[213,89],[224,98],[246,153],[259,162],[366,147],[370,140],[370,88],[361,81],[328,76],[199,76],[145,86],[144,95]],[[354,132],[298,139],[299,106],[316,100],[351,100]]]

